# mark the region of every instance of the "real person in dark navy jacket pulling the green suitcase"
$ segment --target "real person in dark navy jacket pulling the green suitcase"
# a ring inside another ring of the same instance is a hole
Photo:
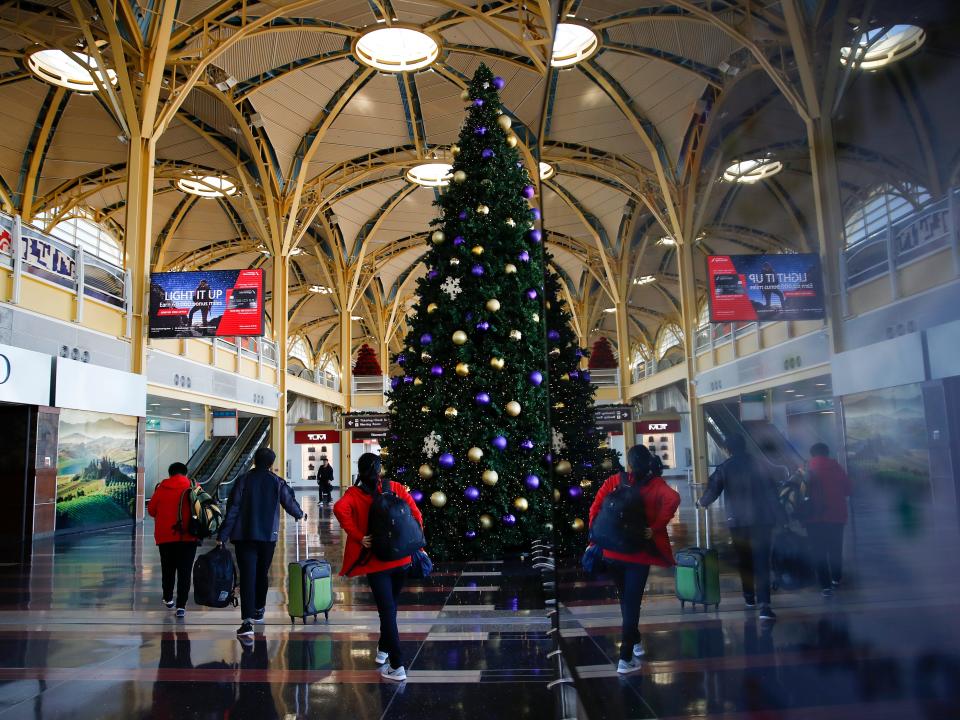
[[[262,447],[253,456],[253,470],[241,475],[227,499],[227,516],[217,540],[233,542],[240,571],[240,616],[238,637],[253,635],[253,623],[263,622],[267,604],[268,573],[280,535],[280,507],[297,520],[307,514],[300,509],[293,490],[271,472],[277,456]]]

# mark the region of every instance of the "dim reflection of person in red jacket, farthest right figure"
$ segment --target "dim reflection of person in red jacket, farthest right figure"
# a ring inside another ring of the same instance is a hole
[[[830,448],[817,443],[810,448],[807,484],[813,503],[807,518],[807,536],[817,566],[823,596],[833,595],[843,572],[843,528],[847,524],[847,498],[853,486],[847,473],[830,457]]]

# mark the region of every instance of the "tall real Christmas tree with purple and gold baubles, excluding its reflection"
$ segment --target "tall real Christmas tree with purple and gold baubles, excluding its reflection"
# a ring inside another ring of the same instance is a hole
[[[553,520],[540,211],[503,85],[482,65],[464,91],[452,182],[389,393],[385,469],[411,488],[438,559],[502,557]]]

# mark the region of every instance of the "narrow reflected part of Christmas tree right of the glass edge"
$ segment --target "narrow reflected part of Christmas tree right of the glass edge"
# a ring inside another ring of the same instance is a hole
[[[562,556],[578,555],[587,544],[590,504],[620,466],[617,452],[601,447],[605,440],[593,417],[596,386],[582,368],[587,353],[571,327],[569,310],[560,299],[560,278],[548,271],[544,286],[550,369],[551,460],[554,463],[554,543]]]

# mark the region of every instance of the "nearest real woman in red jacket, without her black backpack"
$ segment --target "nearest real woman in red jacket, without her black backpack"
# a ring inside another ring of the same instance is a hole
[[[400,682],[407,679],[407,673],[400,647],[400,630],[397,627],[397,603],[412,560],[409,556],[399,560],[378,560],[370,551],[373,538],[367,533],[367,523],[373,497],[381,488],[380,467],[379,455],[361,455],[357,461],[357,482],[333,506],[333,514],[337,516],[340,527],[347,534],[340,574],[348,577],[366,575],[373,600],[377,604],[377,613],[380,615],[376,663],[383,666],[381,676]],[[423,516],[410,493],[398,482],[390,480],[389,483],[390,490],[406,501],[410,512],[422,527]]]

